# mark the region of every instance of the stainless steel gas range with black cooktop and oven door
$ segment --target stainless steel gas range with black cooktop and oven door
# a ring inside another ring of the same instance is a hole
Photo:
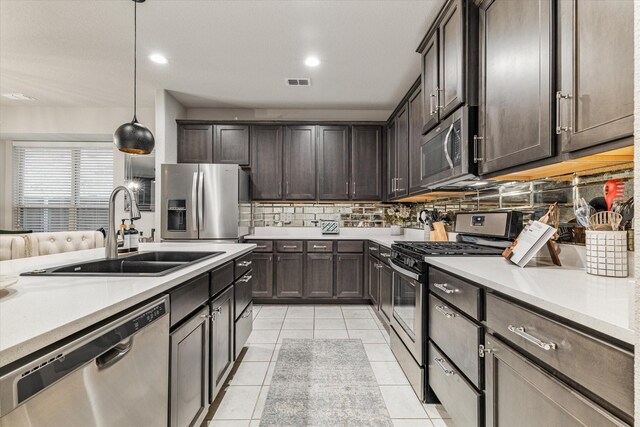
[[[456,242],[395,242],[391,245],[393,316],[391,350],[421,400],[432,402],[425,360],[429,258],[500,256],[522,229],[520,212],[456,214]]]

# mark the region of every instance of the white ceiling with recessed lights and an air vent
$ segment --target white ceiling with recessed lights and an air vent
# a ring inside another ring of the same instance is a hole
[[[138,6],[139,103],[391,109],[420,72],[415,48],[444,0],[147,0]],[[3,105],[128,106],[133,2],[0,0]],[[147,56],[162,53],[168,65]],[[309,54],[322,64],[308,68]],[[309,88],[286,87],[310,77]]]

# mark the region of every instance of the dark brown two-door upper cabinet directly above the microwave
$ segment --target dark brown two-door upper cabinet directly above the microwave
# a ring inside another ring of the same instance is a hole
[[[478,8],[472,0],[450,0],[423,39],[422,133],[462,104],[477,105]]]

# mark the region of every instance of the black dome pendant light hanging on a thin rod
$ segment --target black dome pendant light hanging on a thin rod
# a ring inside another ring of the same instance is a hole
[[[118,150],[128,154],[149,154],[153,151],[155,139],[153,134],[146,126],[138,123],[136,117],[137,109],[137,43],[138,43],[138,3],[144,3],[145,0],[133,0],[133,120],[125,123],[116,129],[113,134],[113,142]]]

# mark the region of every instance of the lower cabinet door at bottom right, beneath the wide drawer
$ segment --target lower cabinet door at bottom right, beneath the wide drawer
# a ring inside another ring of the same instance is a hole
[[[626,425],[492,335],[485,346],[487,427]]]

